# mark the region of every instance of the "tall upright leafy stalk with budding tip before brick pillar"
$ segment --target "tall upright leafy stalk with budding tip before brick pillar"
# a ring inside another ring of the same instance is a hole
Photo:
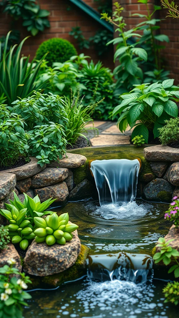
[[[119,32],[119,37],[114,38],[107,45],[113,43],[116,46],[116,52],[114,54],[114,60],[118,59],[120,65],[114,69],[114,74],[118,80],[116,83],[116,89],[118,94],[131,90],[132,85],[139,85],[143,80],[143,72],[138,66],[138,61],[147,61],[147,52],[143,48],[135,47],[134,44],[129,43],[129,38],[132,36],[141,37],[136,33],[136,28],[128,31],[124,31],[125,22],[121,16],[121,12],[124,10],[118,2],[114,3],[115,10],[112,17],[107,13],[102,13],[102,19],[105,19],[109,23],[117,26],[116,31]]]

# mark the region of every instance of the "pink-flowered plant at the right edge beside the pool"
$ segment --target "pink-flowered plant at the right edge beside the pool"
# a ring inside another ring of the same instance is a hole
[[[173,197],[173,202],[170,203],[168,211],[165,213],[165,219],[173,222],[175,228],[179,228],[179,199],[177,196]]]

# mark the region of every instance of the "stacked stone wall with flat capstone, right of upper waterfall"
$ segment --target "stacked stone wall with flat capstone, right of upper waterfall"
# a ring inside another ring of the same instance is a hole
[[[179,197],[179,149],[168,146],[152,146],[144,149],[156,178],[143,189],[148,199]]]

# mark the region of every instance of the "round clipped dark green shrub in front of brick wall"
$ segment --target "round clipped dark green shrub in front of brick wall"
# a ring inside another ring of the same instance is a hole
[[[62,38],[52,38],[42,42],[36,52],[36,59],[41,59],[46,53],[46,60],[49,66],[54,62],[65,62],[71,56],[77,55],[73,44]]]

